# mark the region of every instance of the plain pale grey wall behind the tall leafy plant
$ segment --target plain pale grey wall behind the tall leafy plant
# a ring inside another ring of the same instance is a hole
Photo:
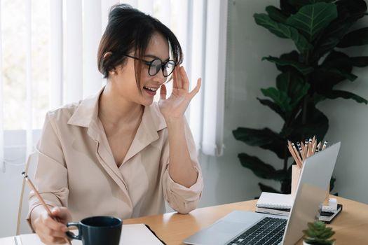
[[[237,127],[261,129],[270,127],[280,131],[282,120],[256,97],[262,97],[260,88],[275,87],[279,71],[274,64],[262,62],[261,57],[279,56],[294,48],[291,41],[281,39],[264,27],[255,24],[253,14],[265,13],[268,5],[278,6],[279,1],[252,0],[234,1],[229,5],[228,69],[226,80],[226,110],[224,144],[226,149],[221,158],[201,156],[205,191],[200,207],[228,202],[249,200],[259,196],[257,183],[266,183],[280,188],[279,183],[264,181],[240,165],[238,153],[257,155],[261,160],[282,167],[282,162],[271,151],[247,146],[233,138],[232,130]],[[367,27],[367,19],[360,25]],[[367,55],[368,48],[350,48],[349,55]],[[360,94],[368,99],[368,68],[353,71],[359,78],[346,82],[341,89]],[[329,118],[330,143],[341,141],[341,151],[336,162],[334,176],[337,191],[342,197],[368,204],[368,158],[365,144],[368,139],[368,106],[352,100],[335,99],[322,102],[319,108]]]

